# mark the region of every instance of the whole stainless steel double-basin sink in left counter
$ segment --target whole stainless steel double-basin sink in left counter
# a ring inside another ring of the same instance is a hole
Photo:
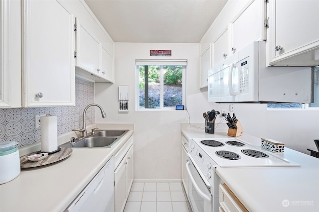
[[[77,138],[74,142],[67,142],[60,147],[69,148],[111,148],[129,130],[97,129],[94,134],[84,138]]]

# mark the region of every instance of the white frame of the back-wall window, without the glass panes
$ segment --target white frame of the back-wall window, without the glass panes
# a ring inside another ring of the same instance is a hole
[[[160,66],[160,108],[140,108],[140,70],[139,66]],[[136,95],[135,95],[135,110],[136,111],[169,111],[175,110],[175,106],[171,107],[164,107],[164,70],[163,66],[182,66],[182,105],[187,108],[186,106],[186,69],[187,69],[187,60],[143,60],[143,59],[136,59],[135,71],[136,71]]]

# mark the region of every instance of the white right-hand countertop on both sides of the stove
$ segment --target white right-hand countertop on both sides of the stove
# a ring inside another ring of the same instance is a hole
[[[205,134],[204,130],[182,125],[187,139],[227,136],[227,132]],[[260,145],[261,138],[238,138]],[[279,153],[282,154],[282,153]],[[216,168],[216,173],[251,212],[318,212],[319,159],[285,147],[285,158],[300,167]],[[286,204],[289,204],[288,206]],[[287,207],[285,207],[285,206]]]

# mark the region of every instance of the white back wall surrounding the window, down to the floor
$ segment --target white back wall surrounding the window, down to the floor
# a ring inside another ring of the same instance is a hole
[[[97,123],[134,123],[135,179],[181,178],[180,123],[187,123],[184,111],[135,111],[135,60],[161,59],[150,57],[151,49],[170,49],[171,57],[187,59],[187,109],[191,123],[204,123],[203,112],[213,109],[206,92],[199,88],[199,44],[115,43],[115,84],[96,83],[95,102],[107,113]],[[119,112],[118,87],[130,86],[129,112]]]

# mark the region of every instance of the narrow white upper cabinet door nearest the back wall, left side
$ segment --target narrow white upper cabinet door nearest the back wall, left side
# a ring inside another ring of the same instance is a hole
[[[100,65],[101,77],[105,78],[109,82],[113,80],[113,56],[101,45],[101,65]]]

